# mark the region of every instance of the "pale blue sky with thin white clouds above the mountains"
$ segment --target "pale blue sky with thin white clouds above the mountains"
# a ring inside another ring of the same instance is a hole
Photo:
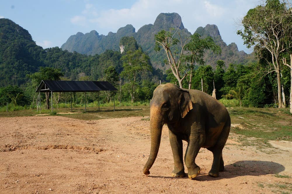
[[[207,24],[218,26],[223,41],[243,45],[236,31],[247,11],[258,0],[2,0],[0,18],[8,18],[25,28],[43,48],[61,47],[77,32],[96,30],[99,34],[117,32],[132,24],[136,32],[153,24],[159,13],[176,12],[189,32]]]

